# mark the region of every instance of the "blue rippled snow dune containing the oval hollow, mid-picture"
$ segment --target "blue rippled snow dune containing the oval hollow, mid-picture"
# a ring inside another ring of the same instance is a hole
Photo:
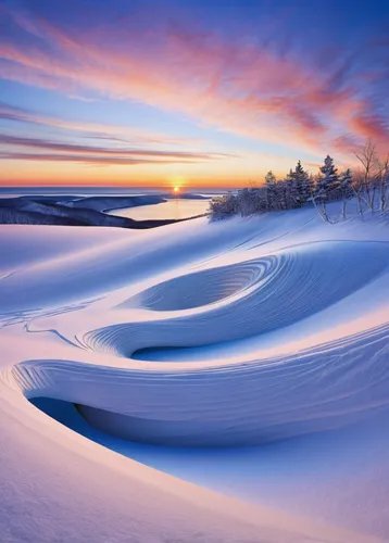
[[[298,245],[230,267],[181,276],[128,302],[158,312],[178,312],[197,304],[200,312],[155,320],[151,312],[147,323],[112,324],[77,337],[91,350],[130,357],[141,349],[191,348],[263,334],[339,302],[385,273],[388,265],[387,243]]]

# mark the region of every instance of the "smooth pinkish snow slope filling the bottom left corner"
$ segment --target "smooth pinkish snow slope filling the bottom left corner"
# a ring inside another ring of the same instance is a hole
[[[142,466],[50,419],[2,378],[2,542],[381,541],[227,497]]]

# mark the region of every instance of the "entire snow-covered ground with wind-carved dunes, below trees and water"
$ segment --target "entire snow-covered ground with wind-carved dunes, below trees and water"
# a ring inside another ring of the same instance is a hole
[[[0,229],[1,542],[389,540],[384,219]]]

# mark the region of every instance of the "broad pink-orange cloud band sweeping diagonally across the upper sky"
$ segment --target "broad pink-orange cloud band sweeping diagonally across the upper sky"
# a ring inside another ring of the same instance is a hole
[[[380,117],[364,112],[357,89],[337,85],[341,73],[328,78],[291,54],[176,29],[137,35],[121,27],[72,36],[42,20],[14,17],[41,41],[25,51],[2,39],[2,77],[73,94],[92,89],[294,148],[331,146],[335,123],[338,138],[350,131],[360,139],[388,137]]]

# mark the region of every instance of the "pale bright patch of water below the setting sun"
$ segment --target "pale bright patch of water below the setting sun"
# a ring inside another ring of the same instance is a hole
[[[111,210],[110,215],[134,218],[136,220],[147,219],[180,219],[203,215],[210,205],[206,199],[172,199],[153,205],[140,205],[138,207],[124,207]]]

